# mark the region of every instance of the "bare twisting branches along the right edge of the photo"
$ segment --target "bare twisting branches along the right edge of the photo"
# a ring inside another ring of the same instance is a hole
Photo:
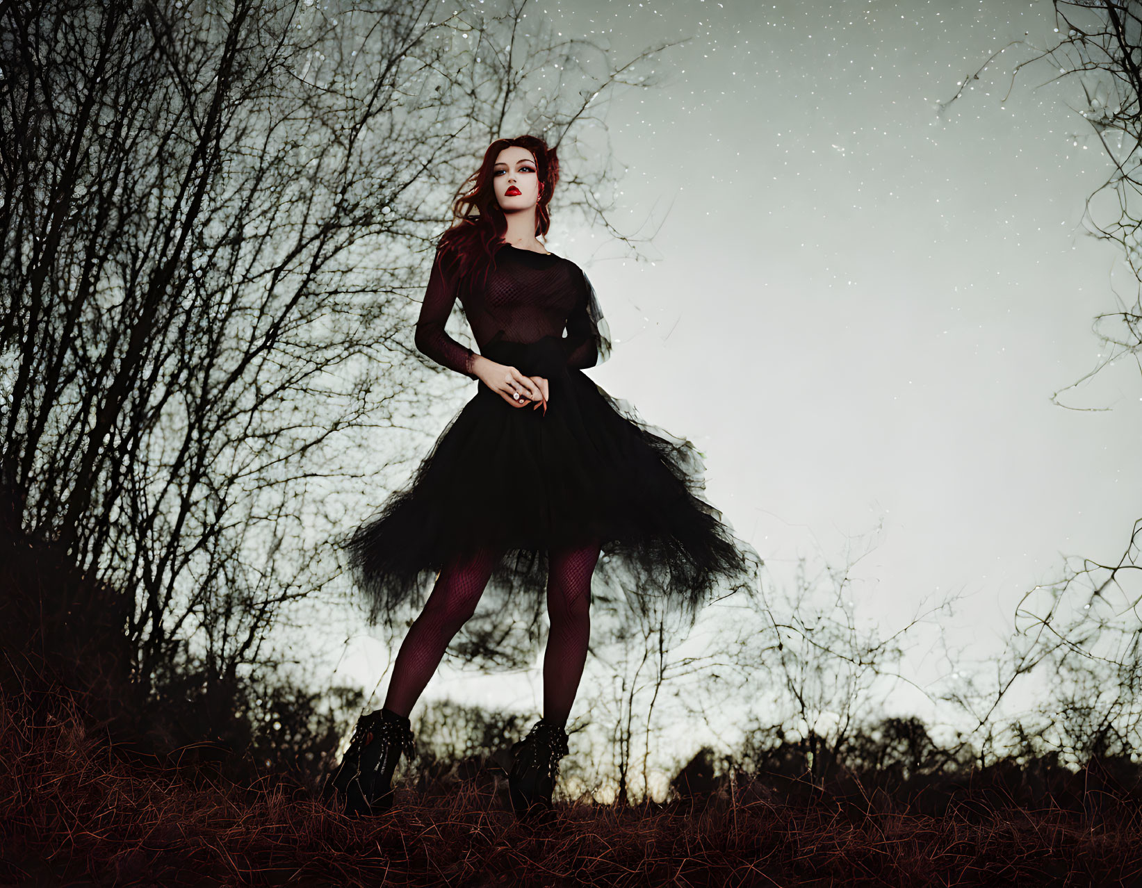
[[[1083,104],[1072,110],[1081,124],[1067,139],[1101,147],[1112,167],[1107,181],[1087,199],[1083,223],[1091,236],[1115,243],[1135,280],[1142,281],[1142,216],[1136,207],[1142,185],[1142,3],[1054,0],[1053,9],[1057,39],[1046,48],[1035,47],[1030,58],[1012,66],[1011,78],[1014,81],[1023,67],[1043,62],[1052,72],[1048,82],[1077,82]],[[1018,43],[1026,41],[1008,47]],[[941,111],[962,98],[967,86],[1008,47],[965,75]],[[1100,199],[1103,194],[1107,199]],[[1131,362],[1142,369],[1140,298],[1142,290],[1135,289],[1132,304],[1119,300],[1116,310],[1095,317],[1095,336],[1104,346],[1101,361],[1055,391],[1055,404],[1068,410],[1103,410],[1072,406],[1060,396],[1116,363]],[[1068,558],[1059,580],[1030,589],[1016,608],[1016,636],[994,662],[994,676],[964,675],[948,691],[947,699],[976,722],[976,733],[983,737],[981,756],[998,745],[1026,741],[1028,732],[1044,749],[1071,764],[1121,754],[1142,742],[1140,532],[1142,519],[1134,522],[1124,552],[1112,563],[1080,558],[1071,566]],[[1020,720],[997,724],[1013,689],[1028,687],[1035,677],[1046,689],[1038,711],[1024,708]]]

